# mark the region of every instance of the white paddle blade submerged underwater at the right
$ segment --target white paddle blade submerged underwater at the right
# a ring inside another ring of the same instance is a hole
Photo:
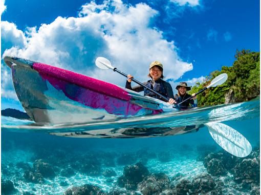
[[[214,141],[232,155],[243,158],[247,157],[252,151],[252,146],[248,140],[232,127],[216,122],[204,125],[208,127]]]

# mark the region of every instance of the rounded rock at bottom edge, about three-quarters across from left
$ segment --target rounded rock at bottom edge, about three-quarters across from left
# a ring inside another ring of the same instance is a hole
[[[200,173],[194,177],[192,180],[191,191],[195,194],[203,194],[213,190],[215,187],[215,182],[210,174]]]

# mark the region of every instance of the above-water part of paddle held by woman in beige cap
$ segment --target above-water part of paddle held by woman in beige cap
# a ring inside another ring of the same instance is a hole
[[[118,72],[120,73],[121,75],[123,76],[126,76],[128,77],[127,74],[125,74],[124,72],[121,72],[120,70],[118,70],[117,68],[113,67],[112,66],[112,63],[108,60],[108,59],[105,59],[105,57],[97,57],[96,61],[95,61],[95,64],[97,67],[99,67],[100,69],[103,69],[103,70],[107,70],[107,69],[112,69],[113,71],[115,72]],[[139,84],[140,86],[150,90],[151,92],[154,92],[155,94],[161,96],[164,100],[166,100],[167,102],[169,101],[167,99],[167,97],[165,97],[164,95],[158,93],[157,91],[153,90],[153,89],[150,89],[149,87],[147,87],[146,85],[144,85],[143,83],[137,81],[136,79],[132,79],[132,81],[134,81],[135,83]]]

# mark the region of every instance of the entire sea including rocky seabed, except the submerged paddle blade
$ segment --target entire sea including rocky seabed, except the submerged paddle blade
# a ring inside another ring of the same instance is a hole
[[[2,116],[2,194],[259,194],[259,113],[255,99],[92,124]],[[208,122],[240,132],[252,152],[225,151]]]

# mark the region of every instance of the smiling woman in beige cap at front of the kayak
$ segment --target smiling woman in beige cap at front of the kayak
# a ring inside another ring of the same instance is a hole
[[[153,90],[157,91],[158,93],[162,94],[163,96],[167,97],[167,99],[169,99],[169,101],[168,101],[169,104],[174,104],[175,100],[173,100],[174,96],[173,96],[172,87],[168,82],[162,80],[164,77],[163,76],[163,65],[160,62],[155,61],[149,65],[148,77],[150,77],[151,80],[144,82],[143,84],[146,85],[147,87],[149,87],[150,89],[153,89]],[[159,99],[159,100],[162,100],[165,102],[165,100],[162,99],[161,96],[155,94],[154,92],[149,91],[148,89],[146,89],[140,85],[132,87],[130,85],[130,83],[132,82],[132,78],[133,78],[133,76],[128,74],[126,85],[125,85],[125,87],[127,89],[137,91],[137,92],[144,91],[144,95],[154,97],[156,99]]]

